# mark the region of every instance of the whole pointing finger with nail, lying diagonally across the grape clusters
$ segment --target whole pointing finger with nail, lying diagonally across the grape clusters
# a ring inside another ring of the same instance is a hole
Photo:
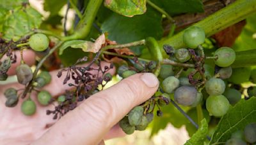
[[[154,95],[159,81],[140,73],[103,90],[61,118],[36,144],[98,144],[134,107]]]

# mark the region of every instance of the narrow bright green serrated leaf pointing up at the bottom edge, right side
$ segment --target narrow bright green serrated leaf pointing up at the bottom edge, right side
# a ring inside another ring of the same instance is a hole
[[[201,121],[200,128],[198,128],[196,133],[193,134],[193,136],[185,143],[185,145],[204,144],[207,132],[208,132],[208,123],[207,123],[206,119],[204,118]]]

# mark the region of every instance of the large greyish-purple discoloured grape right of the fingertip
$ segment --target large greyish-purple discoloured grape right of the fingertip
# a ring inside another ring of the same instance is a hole
[[[174,100],[180,105],[191,106],[196,101],[196,95],[194,86],[180,86],[174,92]]]

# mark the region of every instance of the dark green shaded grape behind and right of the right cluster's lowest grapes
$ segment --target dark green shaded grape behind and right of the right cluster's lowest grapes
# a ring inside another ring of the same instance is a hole
[[[223,93],[227,97],[230,104],[234,105],[241,100],[241,93],[234,88],[227,88]]]

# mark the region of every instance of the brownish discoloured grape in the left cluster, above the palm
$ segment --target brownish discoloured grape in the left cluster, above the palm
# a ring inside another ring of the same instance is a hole
[[[20,64],[16,68],[17,79],[19,83],[26,85],[33,78],[33,72],[27,64]]]

